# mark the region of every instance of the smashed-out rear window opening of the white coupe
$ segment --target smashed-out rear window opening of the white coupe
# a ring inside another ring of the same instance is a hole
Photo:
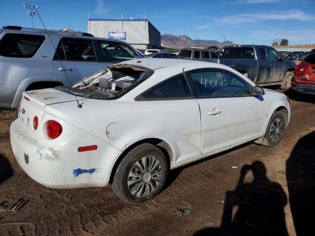
[[[79,97],[117,99],[148,79],[154,71],[144,66],[116,64],[83,78],[70,86],[55,89]]]

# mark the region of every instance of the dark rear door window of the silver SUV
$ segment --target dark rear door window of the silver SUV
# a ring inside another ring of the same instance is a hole
[[[92,40],[79,38],[62,38],[56,49],[59,59],[76,61],[95,61]],[[55,54],[54,60],[58,60]]]

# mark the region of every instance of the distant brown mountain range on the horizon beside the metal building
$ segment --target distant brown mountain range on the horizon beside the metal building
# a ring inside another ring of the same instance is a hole
[[[182,48],[182,47],[208,47],[208,46],[228,46],[234,45],[231,41],[223,41],[219,42],[217,40],[202,40],[202,39],[191,39],[187,35],[174,35],[174,34],[163,34],[161,35],[161,44],[163,46],[169,46],[174,48]]]

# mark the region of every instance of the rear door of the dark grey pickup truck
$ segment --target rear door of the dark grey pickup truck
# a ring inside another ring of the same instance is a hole
[[[270,62],[267,58],[267,51],[264,47],[259,47],[258,51],[258,79],[254,83],[268,83],[270,80]]]

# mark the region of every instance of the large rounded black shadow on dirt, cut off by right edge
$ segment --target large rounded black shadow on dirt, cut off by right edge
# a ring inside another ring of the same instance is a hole
[[[286,161],[289,202],[297,236],[314,236],[315,131],[299,139]]]

